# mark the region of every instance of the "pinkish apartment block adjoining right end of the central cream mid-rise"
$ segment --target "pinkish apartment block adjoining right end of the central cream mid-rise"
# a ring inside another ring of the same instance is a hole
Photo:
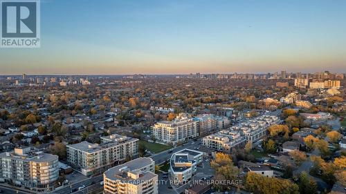
[[[219,117],[212,114],[197,115],[194,120],[197,121],[199,135],[201,136],[215,133],[230,125],[228,117]]]

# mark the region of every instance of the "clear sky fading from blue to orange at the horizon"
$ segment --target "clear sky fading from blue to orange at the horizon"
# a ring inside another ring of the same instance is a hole
[[[344,0],[41,0],[0,75],[346,72]]]

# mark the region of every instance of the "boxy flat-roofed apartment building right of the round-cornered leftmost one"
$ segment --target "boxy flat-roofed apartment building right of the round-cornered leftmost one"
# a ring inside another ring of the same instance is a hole
[[[138,157],[138,139],[122,135],[101,137],[101,144],[80,142],[66,146],[67,162],[83,175],[101,172],[125,159]]]

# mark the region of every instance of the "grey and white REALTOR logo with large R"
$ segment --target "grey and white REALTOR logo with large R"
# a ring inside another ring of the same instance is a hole
[[[4,48],[40,46],[39,0],[0,0],[1,36]]]

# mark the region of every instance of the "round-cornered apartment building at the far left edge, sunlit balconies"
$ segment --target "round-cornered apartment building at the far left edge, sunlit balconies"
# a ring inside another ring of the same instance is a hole
[[[9,182],[44,192],[54,188],[59,177],[57,155],[15,148],[0,153],[0,182]]]

